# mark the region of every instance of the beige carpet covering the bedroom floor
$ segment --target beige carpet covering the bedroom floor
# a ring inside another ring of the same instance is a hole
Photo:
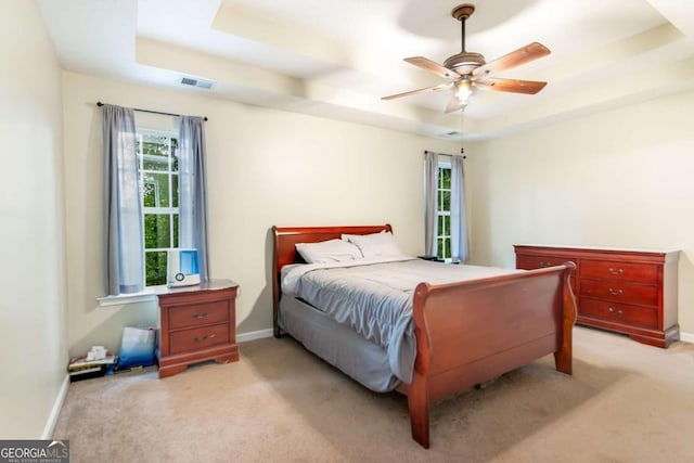
[[[288,337],[166,380],[155,369],[70,385],[54,437],[72,462],[693,462],[694,345],[575,329],[574,375],[552,357],[432,411],[375,394]]]

